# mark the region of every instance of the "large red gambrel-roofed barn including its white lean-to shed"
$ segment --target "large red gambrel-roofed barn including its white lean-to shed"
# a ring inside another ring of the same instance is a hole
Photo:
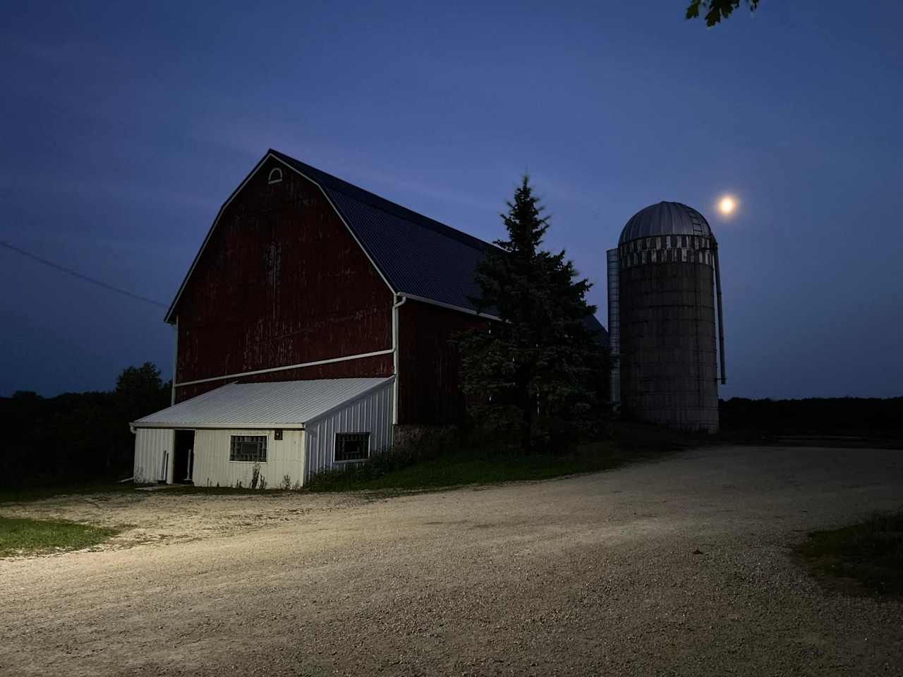
[[[256,468],[269,486],[303,484],[396,431],[459,422],[451,339],[495,320],[470,302],[488,246],[267,152],[166,314],[173,406],[133,424],[135,478],[247,486]]]

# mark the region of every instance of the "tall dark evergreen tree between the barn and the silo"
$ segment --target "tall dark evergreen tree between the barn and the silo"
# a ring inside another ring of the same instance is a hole
[[[461,336],[461,380],[476,422],[517,431],[526,452],[599,420],[604,348],[587,323],[591,283],[577,279],[564,251],[540,248],[549,223],[527,176],[507,206],[507,239],[477,266],[471,300],[501,321]]]

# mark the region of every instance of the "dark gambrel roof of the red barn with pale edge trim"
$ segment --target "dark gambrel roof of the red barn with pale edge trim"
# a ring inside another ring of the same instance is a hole
[[[322,190],[396,295],[432,301],[464,312],[477,311],[470,301],[470,297],[479,295],[474,281],[474,269],[486,249],[492,246],[488,242],[380,198],[368,190],[273,149],[267,151],[247,179],[271,157],[303,175]],[[247,179],[228,201],[235,197]],[[222,209],[219,213],[222,213]],[[211,233],[215,227],[216,221],[210,229]],[[207,237],[209,239],[209,234]],[[206,244],[207,240],[204,241],[204,245]],[[202,251],[203,246],[172,301],[166,314],[168,322],[174,321],[173,311]],[[600,330],[600,339],[607,341],[607,334],[599,321],[594,317],[591,320],[588,324],[592,325],[592,329]]]

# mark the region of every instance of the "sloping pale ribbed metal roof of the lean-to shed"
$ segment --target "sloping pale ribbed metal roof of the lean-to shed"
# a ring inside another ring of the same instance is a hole
[[[303,428],[344,403],[389,385],[385,378],[233,383],[138,419],[135,428]]]

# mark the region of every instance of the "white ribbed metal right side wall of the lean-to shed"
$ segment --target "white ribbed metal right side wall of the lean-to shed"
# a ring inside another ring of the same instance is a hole
[[[370,454],[392,446],[392,401],[394,383],[350,402],[334,413],[305,425],[307,463],[305,479],[321,470],[335,466],[335,436],[337,432],[369,432]],[[341,465],[341,464],[339,464]]]

